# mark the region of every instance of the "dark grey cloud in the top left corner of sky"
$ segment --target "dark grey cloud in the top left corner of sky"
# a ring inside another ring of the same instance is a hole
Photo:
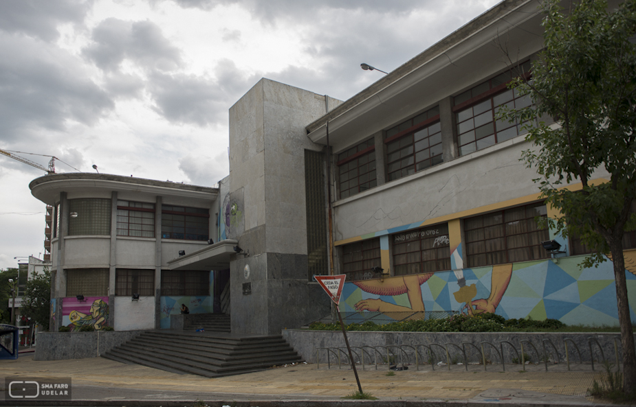
[[[81,23],[93,3],[94,0],[0,1],[0,30],[54,41],[59,36],[59,24]]]

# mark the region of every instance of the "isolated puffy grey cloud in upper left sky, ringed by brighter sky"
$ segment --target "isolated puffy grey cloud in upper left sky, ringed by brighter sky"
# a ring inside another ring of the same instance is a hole
[[[95,29],[83,54],[104,71],[117,71],[124,59],[146,69],[173,71],[182,66],[181,51],[151,21],[106,19]]]

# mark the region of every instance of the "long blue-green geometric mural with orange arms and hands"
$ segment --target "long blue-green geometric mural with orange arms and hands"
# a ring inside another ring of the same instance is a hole
[[[567,325],[618,325],[613,264],[580,268],[583,257],[463,268],[346,283],[340,306],[349,312],[494,312],[505,318],[555,318]],[[636,264],[636,251],[626,264]],[[628,266],[632,321],[636,321],[635,270]],[[344,305],[344,308],[342,307]]]

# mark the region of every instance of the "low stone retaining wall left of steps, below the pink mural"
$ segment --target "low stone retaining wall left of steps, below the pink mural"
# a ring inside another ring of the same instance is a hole
[[[142,332],[39,332],[34,360],[97,358]]]

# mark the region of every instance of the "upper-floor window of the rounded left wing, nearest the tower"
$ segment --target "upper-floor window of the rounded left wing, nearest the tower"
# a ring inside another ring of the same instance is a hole
[[[208,209],[163,205],[161,211],[162,239],[208,240]]]

